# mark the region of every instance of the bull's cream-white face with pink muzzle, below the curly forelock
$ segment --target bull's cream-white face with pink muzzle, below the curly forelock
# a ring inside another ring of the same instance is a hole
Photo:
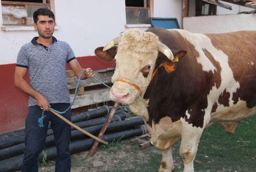
[[[121,49],[121,48],[120,48]],[[116,54],[116,70],[112,76],[111,99],[122,104],[133,104],[143,96],[151,80],[157,59],[157,48],[150,53],[122,48]]]

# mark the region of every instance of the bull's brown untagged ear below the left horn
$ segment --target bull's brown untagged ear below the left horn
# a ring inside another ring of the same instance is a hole
[[[96,56],[106,62],[113,61],[113,59],[116,56],[117,47],[113,47],[113,48],[109,49],[108,51],[103,51],[103,48],[104,47],[98,47],[94,50],[94,53],[96,54]]]

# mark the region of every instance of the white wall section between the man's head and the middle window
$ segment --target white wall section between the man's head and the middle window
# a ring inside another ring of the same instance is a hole
[[[55,36],[68,42],[76,56],[95,55],[95,48],[125,31],[125,0],[74,2],[55,0],[56,21],[61,26]]]

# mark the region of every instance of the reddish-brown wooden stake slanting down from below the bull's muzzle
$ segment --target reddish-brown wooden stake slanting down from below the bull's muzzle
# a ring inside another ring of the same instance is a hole
[[[106,120],[104,126],[102,127],[102,129],[101,129],[100,132],[99,132],[99,135],[98,135],[98,138],[99,138],[99,139],[102,138],[102,136],[104,135],[105,131],[107,130],[108,124],[110,123],[110,121],[111,121],[113,115],[115,114],[116,109],[117,109],[117,107],[119,106],[119,104],[120,104],[119,102],[116,102],[116,103],[114,104],[114,106],[113,106],[111,112],[110,112],[109,115],[108,115],[108,119]],[[99,141],[96,140],[96,141],[94,142],[93,146],[91,147],[90,152],[88,153],[89,156],[93,156],[93,154],[96,152],[96,149],[97,149],[97,147],[98,147],[98,144],[99,144]]]

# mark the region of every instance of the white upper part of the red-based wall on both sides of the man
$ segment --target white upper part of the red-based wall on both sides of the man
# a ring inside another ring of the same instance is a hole
[[[68,42],[76,56],[94,55],[126,30],[125,0],[55,0],[55,15],[60,29],[53,36]],[[0,65],[16,63],[20,47],[35,36],[37,31],[0,31]]]

